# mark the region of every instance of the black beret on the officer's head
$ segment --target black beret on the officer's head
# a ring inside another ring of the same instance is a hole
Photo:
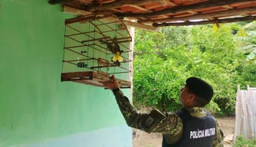
[[[198,77],[189,77],[185,80],[186,86],[189,87],[189,91],[197,96],[202,97],[208,102],[212,100],[213,90],[212,86],[206,83],[204,80]]]

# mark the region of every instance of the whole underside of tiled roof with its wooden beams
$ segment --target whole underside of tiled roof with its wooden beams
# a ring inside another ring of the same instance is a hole
[[[84,5],[83,2],[86,1],[91,2],[91,4]],[[112,12],[123,19],[123,24],[147,31],[159,31],[157,27],[168,25],[212,24],[215,23],[216,19],[219,23],[247,21],[254,19],[254,14],[256,14],[256,0],[204,0],[196,2],[185,0],[185,2],[189,2],[188,5],[184,5],[184,2],[179,4],[179,2],[171,0],[111,0],[109,3],[103,2],[102,4],[97,0],[48,0],[48,2],[51,4],[62,3],[62,5],[66,5],[63,7],[64,13],[78,16],[93,14],[97,11]],[[236,16],[243,17],[234,18]],[[130,20],[133,19],[137,22],[126,21],[124,18],[130,18]],[[176,23],[176,21],[185,22]],[[153,24],[153,26],[147,24]]]

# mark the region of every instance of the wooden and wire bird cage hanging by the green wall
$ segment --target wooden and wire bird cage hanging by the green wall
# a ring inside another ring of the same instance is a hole
[[[132,38],[117,16],[104,12],[65,21],[61,81],[104,87],[114,75],[121,88],[130,87]]]

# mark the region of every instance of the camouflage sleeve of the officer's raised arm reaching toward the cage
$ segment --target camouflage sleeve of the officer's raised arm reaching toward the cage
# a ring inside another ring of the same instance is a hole
[[[182,120],[175,113],[168,113],[164,117],[161,117],[159,123],[154,126],[153,129],[147,131],[144,126],[145,119],[148,118],[149,113],[138,113],[136,109],[130,104],[130,101],[126,96],[123,96],[123,92],[118,90],[114,93],[116,96],[117,104],[123,114],[124,119],[128,126],[141,129],[146,132],[161,132],[163,134],[175,135],[182,132]]]

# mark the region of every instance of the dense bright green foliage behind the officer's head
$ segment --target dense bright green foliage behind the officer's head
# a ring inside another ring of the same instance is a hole
[[[214,87],[213,112],[234,113],[237,85],[255,81],[255,64],[245,64],[234,36],[238,24],[167,27],[160,33],[136,30],[133,103],[162,111],[181,108],[179,90],[188,77],[201,77]]]

